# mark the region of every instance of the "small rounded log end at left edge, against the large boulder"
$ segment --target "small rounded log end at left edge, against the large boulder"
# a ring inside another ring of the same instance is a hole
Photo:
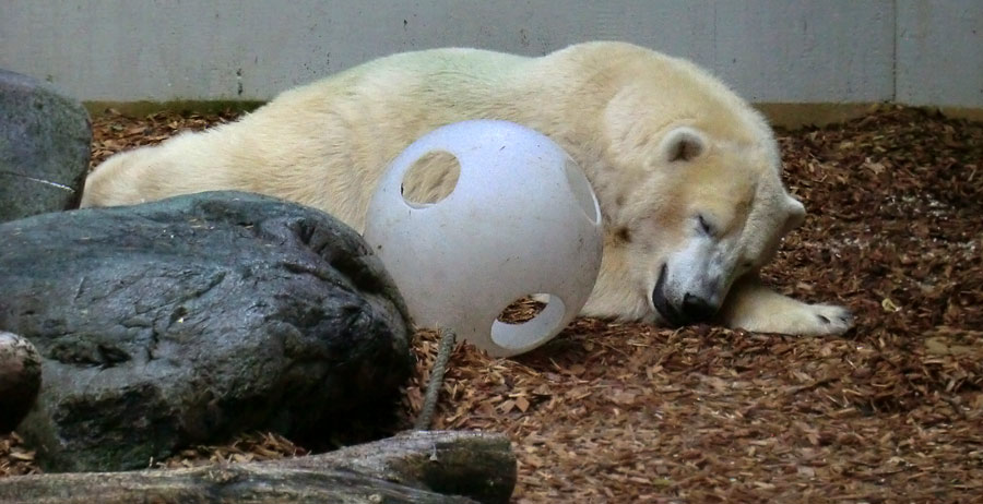
[[[40,388],[40,356],[31,341],[0,331],[0,434],[14,430]]]

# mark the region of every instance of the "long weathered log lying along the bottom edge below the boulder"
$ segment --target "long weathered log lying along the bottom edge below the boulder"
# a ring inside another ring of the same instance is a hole
[[[411,432],[260,463],[0,479],[0,503],[506,503],[516,455],[498,434]]]

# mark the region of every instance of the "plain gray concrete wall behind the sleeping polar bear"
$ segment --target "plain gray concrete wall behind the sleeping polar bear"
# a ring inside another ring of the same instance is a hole
[[[82,100],[269,99],[391,52],[621,39],[757,103],[983,108],[980,0],[0,0],[0,68]]]

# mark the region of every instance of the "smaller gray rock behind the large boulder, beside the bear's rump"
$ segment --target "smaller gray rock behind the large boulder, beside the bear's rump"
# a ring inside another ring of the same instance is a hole
[[[81,104],[0,70],[0,221],[73,207],[91,144]]]

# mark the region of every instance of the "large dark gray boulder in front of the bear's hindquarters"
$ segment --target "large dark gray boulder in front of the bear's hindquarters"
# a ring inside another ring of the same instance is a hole
[[[362,238],[245,193],[0,224],[0,329],[43,357],[17,432],[45,470],[145,467],[269,429],[325,439],[392,411],[405,307]]]

